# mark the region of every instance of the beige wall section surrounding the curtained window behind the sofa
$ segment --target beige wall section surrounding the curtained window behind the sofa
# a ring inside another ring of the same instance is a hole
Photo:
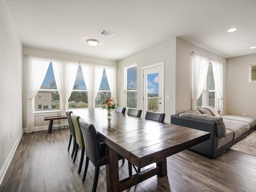
[[[223,114],[226,113],[226,59],[180,38],[176,38],[176,113],[191,109],[192,56],[195,52],[224,63]]]

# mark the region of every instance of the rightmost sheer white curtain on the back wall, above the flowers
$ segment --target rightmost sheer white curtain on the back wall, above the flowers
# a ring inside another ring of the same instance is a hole
[[[112,97],[116,98],[116,67],[105,66],[108,84]]]

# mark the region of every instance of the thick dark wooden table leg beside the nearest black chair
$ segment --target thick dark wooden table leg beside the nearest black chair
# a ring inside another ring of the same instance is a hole
[[[118,192],[119,173],[118,173],[118,154],[106,145],[106,182],[107,192]]]

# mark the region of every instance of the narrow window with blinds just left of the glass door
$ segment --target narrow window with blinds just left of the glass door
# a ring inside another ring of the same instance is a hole
[[[137,108],[137,65],[124,68],[126,107]]]

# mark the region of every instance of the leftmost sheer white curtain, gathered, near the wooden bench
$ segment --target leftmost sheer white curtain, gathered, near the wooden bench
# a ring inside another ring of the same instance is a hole
[[[48,70],[50,59],[28,56],[28,105],[26,133],[35,129],[34,97],[38,92]]]

